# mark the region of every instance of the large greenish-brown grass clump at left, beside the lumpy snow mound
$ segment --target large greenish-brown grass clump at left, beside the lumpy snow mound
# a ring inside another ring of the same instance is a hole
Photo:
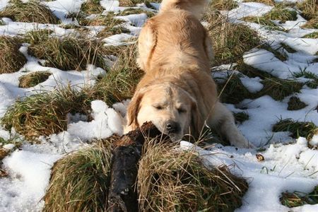
[[[66,130],[68,113],[88,114],[91,100],[90,93],[69,87],[31,95],[9,107],[1,124],[29,140],[49,136]]]

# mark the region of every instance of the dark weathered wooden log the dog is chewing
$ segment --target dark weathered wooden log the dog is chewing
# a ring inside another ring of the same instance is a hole
[[[115,143],[110,172],[107,211],[138,211],[138,194],[134,185],[145,136],[155,138],[161,132],[151,122],[130,131]]]

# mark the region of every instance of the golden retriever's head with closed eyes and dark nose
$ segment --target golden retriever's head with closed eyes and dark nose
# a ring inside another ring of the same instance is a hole
[[[135,93],[129,103],[127,121],[133,129],[151,121],[172,141],[178,141],[184,134],[198,132],[198,107],[186,90],[171,83],[156,84]]]

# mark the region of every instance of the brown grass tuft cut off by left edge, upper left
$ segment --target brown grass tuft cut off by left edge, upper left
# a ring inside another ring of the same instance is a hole
[[[20,41],[15,37],[0,36],[0,73],[19,71],[27,62],[19,51]]]

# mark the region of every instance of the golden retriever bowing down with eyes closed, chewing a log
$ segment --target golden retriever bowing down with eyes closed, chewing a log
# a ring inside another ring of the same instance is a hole
[[[208,125],[231,145],[251,147],[218,101],[211,40],[199,21],[207,5],[207,0],[163,0],[159,13],[143,25],[137,63],[145,75],[129,103],[125,133],[151,121],[179,141],[184,134],[197,138]]]

